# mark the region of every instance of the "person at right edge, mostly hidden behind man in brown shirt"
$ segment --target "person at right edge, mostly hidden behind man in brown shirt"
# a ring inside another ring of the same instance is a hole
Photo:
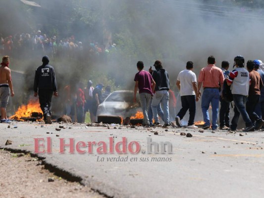
[[[264,83],[264,71],[261,69],[263,67],[263,62],[259,60],[259,63],[260,64],[257,64],[255,62],[254,70],[259,72],[259,74],[261,75],[262,82]],[[257,103],[255,113],[257,113],[260,118],[264,118],[264,87],[261,88],[261,98],[260,101]]]

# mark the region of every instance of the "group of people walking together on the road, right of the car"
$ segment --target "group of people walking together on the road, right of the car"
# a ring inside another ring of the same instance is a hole
[[[261,60],[248,60],[245,65],[243,56],[234,58],[233,70],[229,71],[229,62],[222,61],[221,68],[215,66],[215,58],[208,57],[208,65],[201,69],[198,80],[193,72],[194,63],[188,61],[186,69],[178,74],[176,85],[180,90],[182,108],[175,117],[176,125],[182,127],[181,120],[189,110],[187,128],[198,128],[194,124],[196,102],[201,99],[201,108],[205,124],[203,129],[236,131],[241,114],[244,131],[260,130],[264,126],[264,71]],[[156,70],[144,70],[144,63],[137,62],[134,101],[139,89],[141,107],[144,114],[143,126],[158,126],[158,116],[164,121],[163,127],[171,125],[169,119],[169,78],[161,61],[154,63]],[[201,88],[203,86],[203,94]],[[202,97],[202,98],[201,98]],[[220,110],[219,110],[220,102]],[[229,121],[230,103],[234,103],[234,117]],[[212,120],[209,107],[211,104]],[[217,124],[219,111],[219,127]],[[153,123],[152,120],[155,120]]]

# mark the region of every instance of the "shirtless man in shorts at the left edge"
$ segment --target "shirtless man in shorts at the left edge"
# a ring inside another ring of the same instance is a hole
[[[13,97],[14,90],[11,79],[11,70],[8,68],[9,56],[3,56],[0,67],[0,108],[1,108],[1,120],[0,123],[11,123],[6,116],[6,106],[9,98],[9,88],[11,91],[11,97]]]

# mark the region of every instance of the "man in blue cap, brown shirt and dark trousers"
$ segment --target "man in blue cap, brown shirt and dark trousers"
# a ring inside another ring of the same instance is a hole
[[[249,114],[251,122],[254,124],[256,121],[255,130],[260,130],[264,124],[264,121],[255,113],[255,108],[261,97],[261,88],[263,87],[263,82],[259,72],[254,70],[255,64],[260,65],[260,62],[258,60],[248,60],[247,62],[250,86],[248,101],[246,103],[246,111]]]

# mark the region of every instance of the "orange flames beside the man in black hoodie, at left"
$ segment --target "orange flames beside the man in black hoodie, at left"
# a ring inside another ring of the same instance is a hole
[[[32,112],[42,113],[38,99],[30,99],[28,104],[23,104],[22,106],[19,106],[15,114],[12,115],[10,118],[22,120],[20,119],[21,117],[31,117]]]

